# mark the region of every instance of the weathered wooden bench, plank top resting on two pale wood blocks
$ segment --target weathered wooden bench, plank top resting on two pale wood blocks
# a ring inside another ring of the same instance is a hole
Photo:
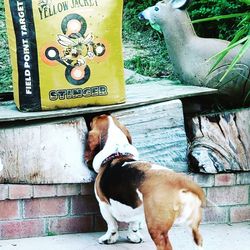
[[[127,86],[123,104],[44,112],[19,112],[0,104],[0,183],[87,183],[93,172],[84,164],[90,117],[112,113],[130,130],[141,159],[187,171],[187,138],[182,98],[216,90],[154,81]]]

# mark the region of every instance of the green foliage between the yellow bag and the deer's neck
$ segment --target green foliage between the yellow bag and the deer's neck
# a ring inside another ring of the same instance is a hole
[[[176,79],[163,36],[138,18],[141,11],[157,2],[124,1],[123,40],[132,41],[136,48],[145,51],[144,55],[125,60],[125,68],[151,77],[168,76],[170,79]]]

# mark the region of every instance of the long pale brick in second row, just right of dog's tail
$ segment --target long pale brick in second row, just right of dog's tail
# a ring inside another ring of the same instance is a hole
[[[208,188],[207,197],[217,205],[248,204],[248,186]]]

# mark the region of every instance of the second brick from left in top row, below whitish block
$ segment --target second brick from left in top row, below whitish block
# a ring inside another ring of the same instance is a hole
[[[32,197],[31,185],[9,185],[9,198],[12,200],[28,199]]]

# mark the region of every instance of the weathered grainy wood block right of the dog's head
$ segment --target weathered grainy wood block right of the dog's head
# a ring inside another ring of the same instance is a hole
[[[180,100],[112,113],[130,131],[140,159],[186,172],[187,139]]]

